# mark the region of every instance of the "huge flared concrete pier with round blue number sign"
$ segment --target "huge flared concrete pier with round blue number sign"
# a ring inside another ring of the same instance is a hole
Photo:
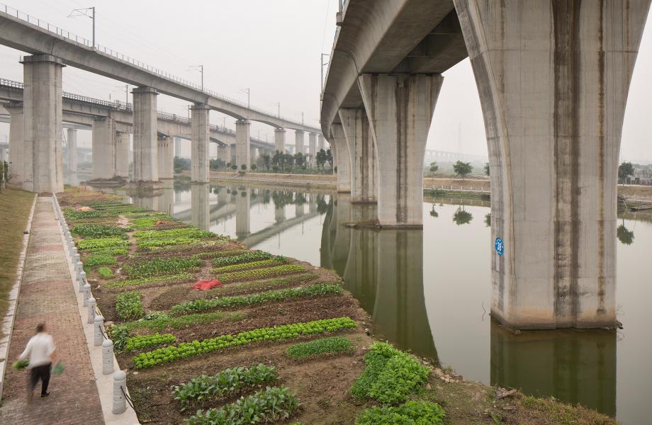
[[[491,314],[515,328],[614,327],[618,152],[650,1],[455,6],[485,119],[492,240],[505,247],[492,252]]]

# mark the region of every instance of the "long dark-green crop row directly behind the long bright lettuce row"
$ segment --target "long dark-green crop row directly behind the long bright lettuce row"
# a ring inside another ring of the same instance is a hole
[[[210,310],[218,307],[240,307],[242,305],[256,305],[264,302],[340,293],[342,293],[342,286],[337,283],[313,283],[313,285],[306,286],[305,288],[270,290],[264,293],[237,297],[219,297],[184,302],[172,307],[172,312],[200,312],[202,310]]]

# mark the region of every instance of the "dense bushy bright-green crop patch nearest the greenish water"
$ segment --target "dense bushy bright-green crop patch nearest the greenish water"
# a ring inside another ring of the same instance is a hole
[[[405,402],[426,382],[430,372],[410,354],[383,342],[371,346],[364,363],[364,372],[351,387],[351,395],[376,399],[381,404]]]

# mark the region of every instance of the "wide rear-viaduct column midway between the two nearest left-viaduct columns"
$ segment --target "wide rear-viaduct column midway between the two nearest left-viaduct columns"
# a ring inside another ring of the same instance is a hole
[[[116,176],[116,121],[110,116],[93,120],[92,179],[112,179]]]

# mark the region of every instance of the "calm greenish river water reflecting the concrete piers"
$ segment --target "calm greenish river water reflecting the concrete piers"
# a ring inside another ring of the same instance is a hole
[[[518,387],[650,424],[652,220],[628,215],[618,242],[617,303],[624,329],[527,331],[493,322],[488,202],[424,203],[423,230],[350,229],[374,217],[349,196],[263,186],[176,183],[133,202],[252,248],[332,268],[373,316],[373,332],[468,380]],[[130,198],[127,198],[131,200]],[[464,203],[465,205],[458,205]]]

